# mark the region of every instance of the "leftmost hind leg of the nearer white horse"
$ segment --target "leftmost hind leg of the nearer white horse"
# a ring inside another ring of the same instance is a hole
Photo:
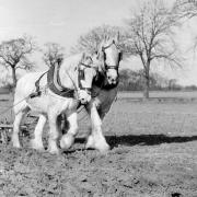
[[[20,132],[20,126],[21,120],[23,119],[24,115],[30,111],[27,106],[22,106],[21,111],[15,114],[15,119],[13,123],[13,134],[12,134],[12,143],[13,147],[20,148],[20,140],[19,140],[19,132]]]

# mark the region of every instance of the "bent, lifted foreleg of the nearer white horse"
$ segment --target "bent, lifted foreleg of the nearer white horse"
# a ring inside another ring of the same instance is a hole
[[[61,149],[69,149],[73,144],[74,137],[78,134],[78,114],[77,114],[77,112],[69,115],[67,117],[67,120],[69,123],[69,130],[66,135],[63,135],[61,137],[61,140],[60,140]]]

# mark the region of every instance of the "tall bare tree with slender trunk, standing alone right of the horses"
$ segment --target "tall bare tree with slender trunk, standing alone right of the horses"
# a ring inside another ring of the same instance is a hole
[[[127,43],[131,54],[141,59],[143,66],[146,99],[149,97],[150,69],[153,61],[163,61],[172,67],[181,66],[177,47],[173,39],[173,28],[178,18],[166,8],[162,0],[144,1],[139,12],[126,21]],[[155,65],[155,63],[154,63]]]

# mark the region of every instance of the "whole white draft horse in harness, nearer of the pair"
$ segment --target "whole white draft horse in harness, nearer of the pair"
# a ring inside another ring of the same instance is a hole
[[[92,63],[91,56],[80,54],[68,57],[62,65],[54,68],[51,81],[48,80],[50,70],[46,74],[40,72],[27,73],[18,81],[14,95],[13,147],[21,147],[20,124],[28,111],[36,112],[39,115],[34,139],[31,140],[32,148],[44,150],[42,135],[48,120],[48,151],[50,153],[59,152],[57,117],[61,113],[67,116],[69,135],[61,138],[60,146],[67,149],[73,143],[74,136],[78,132],[77,106],[79,102],[85,104],[91,100],[90,89],[93,78],[96,76],[96,69]],[[38,86],[35,83],[38,83]],[[34,96],[35,91],[37,91],[37,95]]]

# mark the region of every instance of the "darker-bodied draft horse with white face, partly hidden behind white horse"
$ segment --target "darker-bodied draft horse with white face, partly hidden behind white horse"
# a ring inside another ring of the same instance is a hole
[[[118,84],[118,68],[121,60],[121,51],[118,48],[117,37],[112,38],[105,36],[104,40],[100,44],[96,51],[96,60],[99,62],[99,76],[94,79],[92,85],[92,100],[85,105],[85,109],[91,118],[92,129],[86,137],[85,148],[92,148],[99,150],[101,153],[108,151],[105,137],[102,132],[102,120],[108,113],[112,103],[117,95]],[[70,138],[70,141],[74,141],[74,137],[70,131],[62,136],[63,138]],[[71,147],[72,143],[70,143]],[[70,148],[65,147],[61,148]]]

